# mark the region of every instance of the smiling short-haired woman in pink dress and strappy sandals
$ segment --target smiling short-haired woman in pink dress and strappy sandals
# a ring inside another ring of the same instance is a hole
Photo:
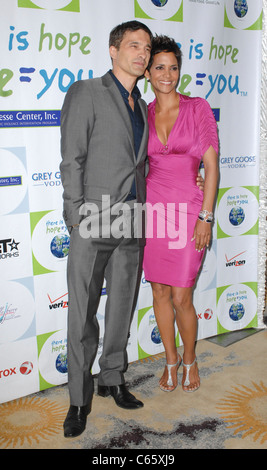
[[[166,352],[160,388],[168,392],[176,388],[182,363],[182,388],[193,392],[199,388],[200,378],[192,289],[211,239],[218,135],[207,101],[176,91],[180,68],[181,51],[176,42],[166,36],[155,37],[145,73],[156,99],[148,107],[144,272],[152,286],[154,313]],[[196,183],[201,160],[204,191]],[[184,345],[183,359],[175,344],[175,320]]]

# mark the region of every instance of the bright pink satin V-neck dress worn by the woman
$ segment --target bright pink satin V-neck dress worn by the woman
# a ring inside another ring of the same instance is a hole
[[[155,128],[156,100],[148,106],[145,278],[177,287],[194,285],[204,250],[195,249],[194,227],[203,191],[196,178],[204,153],[218,153],[217,124],[203,98],[180,95],[179,114],[166,145]]]

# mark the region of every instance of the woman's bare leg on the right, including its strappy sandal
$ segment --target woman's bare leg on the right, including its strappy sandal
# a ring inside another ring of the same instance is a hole
[[[197,337],[197,317],[192,302],[191,287],[172,287],[172,301],[176,311],[176,322],[179,333],[184,344],[184,364],[190,365],[196,358],[195,342]],[[182,386],[185,391],[194,391],[200,385],[197,363],[189,370],[190,385],[184,386],[186,377],[186,368],[184,367],[184,375]]]

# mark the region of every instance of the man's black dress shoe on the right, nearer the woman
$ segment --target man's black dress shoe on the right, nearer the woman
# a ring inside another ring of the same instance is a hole
[[[125,384],[121,385],[98,385],[98,395],[101,397],[108,397],[111,395],[116,405],[126,410],[134,410],[136,408],[142,408],[144,404],[137,400],[126,388]]]

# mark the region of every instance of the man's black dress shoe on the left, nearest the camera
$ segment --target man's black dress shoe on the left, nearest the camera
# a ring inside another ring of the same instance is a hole
[[[70,405],[64,422],[64,437],[77,437],[85,430],[87,415],[91,411],[90,405]]]

